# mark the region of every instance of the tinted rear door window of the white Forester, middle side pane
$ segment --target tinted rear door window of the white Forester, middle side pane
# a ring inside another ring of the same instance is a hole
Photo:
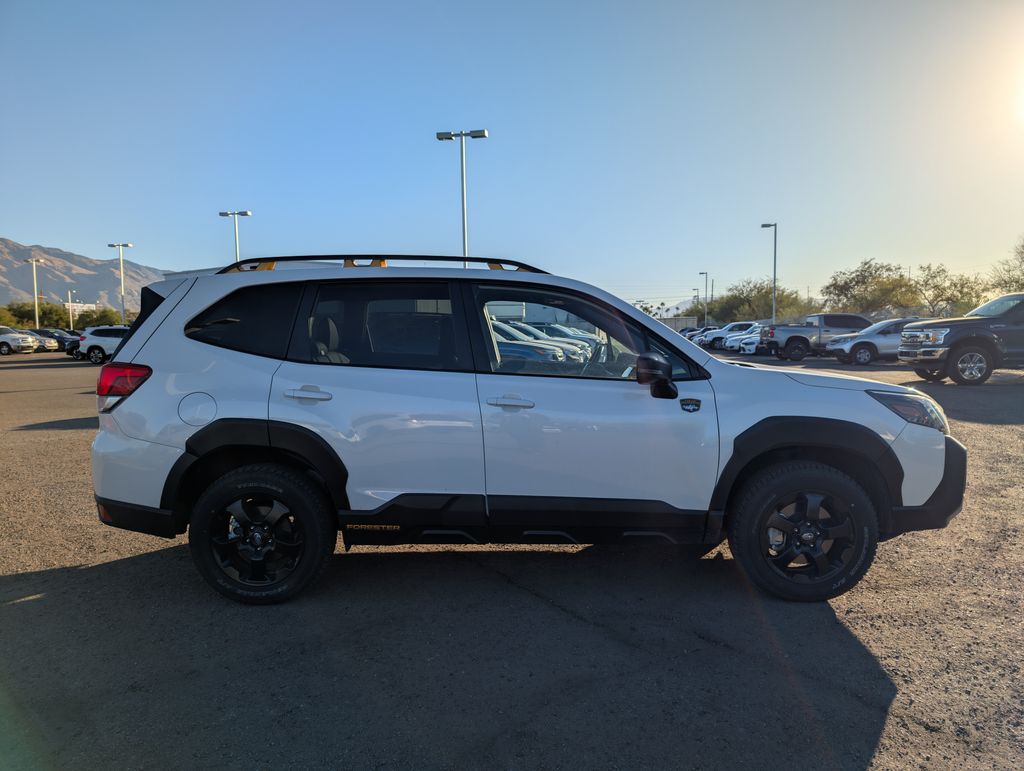
[[[460,326],[461,325],[461,326]],[[302,325],[300,325],[301,327]],[[294,358],[401,370],[472,369],[465,323],[443,282],[339,282],[319,287]]]

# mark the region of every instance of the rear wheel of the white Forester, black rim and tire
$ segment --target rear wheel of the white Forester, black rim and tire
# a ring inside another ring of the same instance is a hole
[[[250,605],[295,597],[324,571],[337,541],[324,491],[275,464],[224,474],[196,502],[188,523],[200,574],[225,597]]]

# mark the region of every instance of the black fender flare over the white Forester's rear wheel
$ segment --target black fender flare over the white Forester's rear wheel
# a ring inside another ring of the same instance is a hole
[[[345,486],[348,469],[324,437],[308,428],[280,421],[251,418],[221,418],[194,433],[185,441],[185,452],[171,467],[160,498],[162,509],[173,509],[181,481],[188,469],[215,451],[276,449],[301,460],[324,480],[336,509],[348,508]]]

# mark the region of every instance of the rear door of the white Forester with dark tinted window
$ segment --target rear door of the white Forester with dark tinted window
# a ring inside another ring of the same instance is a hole
[[[350,509],[483,524],[476,380],[446,282],[310,285],[288,359],[269,418],[327,440],[348,471]]]

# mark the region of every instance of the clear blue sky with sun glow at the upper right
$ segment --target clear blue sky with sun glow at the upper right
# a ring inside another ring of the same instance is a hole
[[[630,299],[985,271],[1024,234],[1024,3],[0,3],[0,235],[166,269],[470,251]]]

